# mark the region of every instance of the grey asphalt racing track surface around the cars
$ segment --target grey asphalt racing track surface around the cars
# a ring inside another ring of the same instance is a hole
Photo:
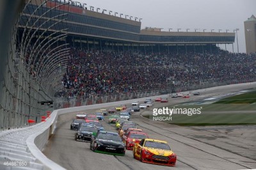
[[[255,88],[255,85],[240,85],[232,88],[216,88],[202,91],[191,98],[169,98],[168,104],[156,103],[154,107],[179,104]],[[154,97],[152,97],[154,99]],[[127,104],[129,107],[129,104]],[[93,111],[86,111],[93,112]],[[157,166],[135,160],[132,151],[125,156],[94,153],[90,143],[75,141],[70,123],[76,112],[58,118],[56,133],[52,135],[43,153],[66,169],[256,169],[256,126],[179,127],[148,120],[141,114],[152,114],[152,108],[132,114],[131,121],[147,132],[150,138],[168,141],[177,154],[175,167]],[[105,130],[116,132],[115,125],[102,121]]]

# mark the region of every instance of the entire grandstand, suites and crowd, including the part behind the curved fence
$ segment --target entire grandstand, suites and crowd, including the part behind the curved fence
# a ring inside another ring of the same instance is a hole
[[[6,56],[1,128],[22,126],[52,107],[255,81],[255,55],[218,48],[234,43],[235,33],[141,28],[140,19],[86,6],[25,1]]]

